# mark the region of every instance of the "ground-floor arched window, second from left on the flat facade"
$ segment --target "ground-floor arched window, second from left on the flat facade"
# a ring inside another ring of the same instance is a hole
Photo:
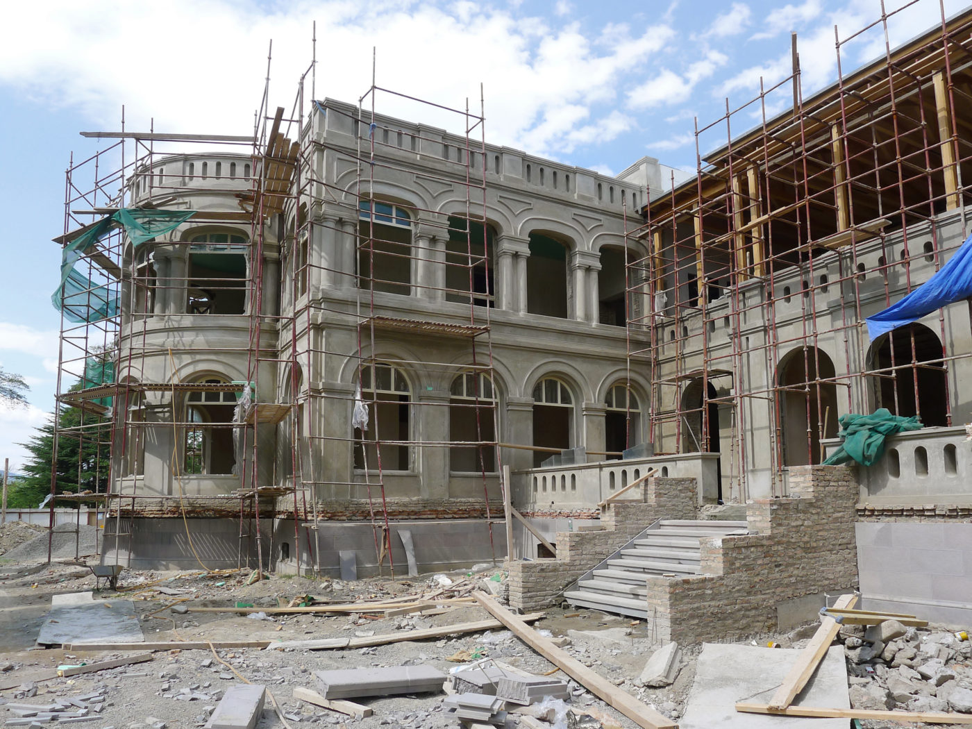
[[[449,389],[449,439],[456,445],[449,451],[449,469],[458,472],[495,472],[497,469],[495,427],[496,390],[484,372],[466,372],[452,381]]]

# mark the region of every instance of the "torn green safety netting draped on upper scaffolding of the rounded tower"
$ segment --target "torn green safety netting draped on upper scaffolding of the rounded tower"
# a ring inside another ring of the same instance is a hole
[[[107,235],[116,225],[122,226],[132,245],[138,246],[188,221],[194,210],[140,210],[121,208],[102,218],[64,246],[61,254],[61,276],[51,296],[55,309],[77,324],[98,322],[119,313],[118,294],[107,284],[98,284],[74,267],[88,248]]]

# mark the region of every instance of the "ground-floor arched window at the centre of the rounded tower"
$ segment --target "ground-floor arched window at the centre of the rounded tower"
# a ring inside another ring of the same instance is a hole
[[[230,474],[236,463],[233,451],[233,409],[236,392],[226,380],[210,378],[196,383],[185,400],[183,472]]]

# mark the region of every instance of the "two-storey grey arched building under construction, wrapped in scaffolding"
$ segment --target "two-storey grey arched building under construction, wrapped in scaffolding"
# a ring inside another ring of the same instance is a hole
[[[84,414],[56,440],[111,472],[58,499],[104,504],[113,564],[555,558],[649,476],[696,508],[788,496],[885,407],[925,428],[862,471],[858,516],[967,514],[969,308],[864,321],[966,237],[972,13],[897,49],[891,16],[835,29],[831,87],[794,65],[697,124],[688,179],[491,145],[482,99],[432,105],[462,134],[383,116],[427,102],[382,87],[321,101],[313,64],[252,137],[95,133],[57,239],[59,406]]]

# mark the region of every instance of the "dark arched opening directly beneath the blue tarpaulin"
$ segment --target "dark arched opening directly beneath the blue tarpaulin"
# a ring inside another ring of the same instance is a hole
[[[948,385],[942,342],[920,324],[889,331],[868,350],[868,377],[875,409],[895,415],[919,415],[925,426],[947,426]]]

